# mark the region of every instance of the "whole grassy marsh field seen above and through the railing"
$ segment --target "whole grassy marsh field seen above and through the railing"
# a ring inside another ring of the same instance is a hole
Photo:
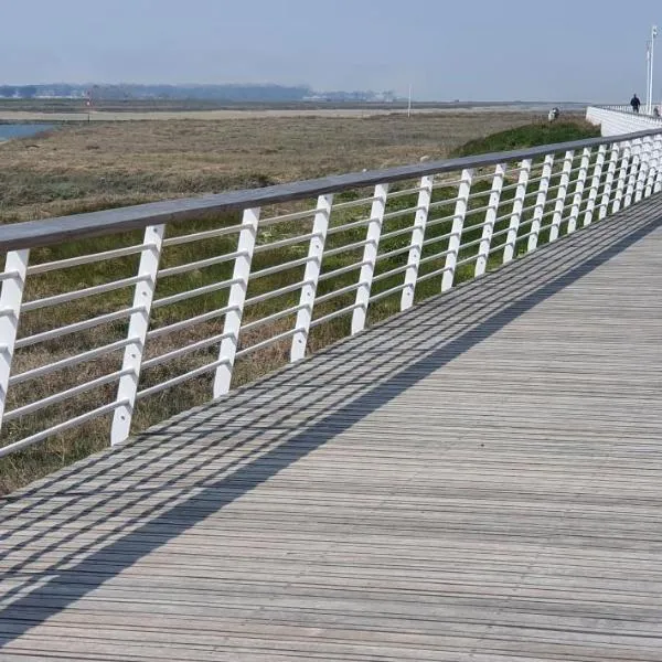
[[[109,206],[122,206],[163,199],[221,192],[228,189],[261,186],[299,179],[344,173],[363,169],[386,168],[412,163],[423,157],[439,159],[458,153],[480,153],[498,151],[531,143],[560,142],[595,135],[595,129],[581,122],[558,124],[549,128],[537,122],[531,114],[450,114],[438,116],[420,115],[375,116],[362,119],[348,118],[245,118],[226,121],[140,121],[117,124],[66,125],[47,135],[15,140],[2,146],[0,163],[0,218],[3,223],[45,218],[77,212],[96,211]],[[534,122],[532,125],[532,121]],[[531,128],[533,126],[533,128]],[[517,128],[520,127],[520,128]],[[522,128],[523,127],[523,128]],[[470,142],[472,141],[472,142]],[[537,142],[536,142],[537,141]],[[415,182],[403,185],[415,185]],[[489,195],[488,179],[474,185],[474,191],[484,192],[472,204],[484,205]],[[334,202],[348,202],[357,196],[370,195],[370,191],[351,191],[338,194]],[[502,204],[512,205],[512,194],[503,196]],[[442,204],[455,195],[452,186],[435,189],[434,200]],[[389,201],[387,211],[410,209],[416,197],[404,195]],[[440,207],[440,212],[452,213],[452,205]],[[297,205],[280,205],[268,210],[268,215],[297,211]],[[365,217],[369,209],[356,209],[351,213],[332,216],[332,224],[340,225],[355,218]],[[184,225],[169,226],[168,236],[204,231],[237,222],[236,215],[223,217],[201,217]],[[257,244],[298,236],[310,232],[308,222],[288,222],[277,229],[263,228]],[[384,231],[405,229],[412,218],[402,217],[389,222]],[[448,232],[445,224],[435,229],[439,235]],[[364,227],[334,235],[330,247],[343,246],[363,238]],[[427,235],[426,235],[427,236]],[[434,236],[434,235],[431,235]],[[465,237],[463,241],[470,237]],[[383,246],[386,252],[406,248],[409,238],[405,234],[389,239]],[[505,238],[503,238],[505,241]],[[118,246],[129,246],[141,242],[141,233],[125,233],[122,236],[100,237],[83,242],[71,242],[62,246],[32,252],[31,264],[62,259],[74,255],[108,250]],[[333,244],[335,242],[335,244]],[[236,237],[217,237],[200,244],[183,244],[164,253],[162,267],[186,264],[224,253],[232,253]],[[382,249],[382,246],[381,246]],[[434,250],[435,248],[433,248]],[[438,247],[437,247],[438,249]],[[256,255],[254,269],[301,258],[307,246],[297,244],[278,250],[266,250]],[[361,253],[340,253],[324,260],[322,273],[342,269],[361,259]],[[376,276],[402,266],[406,255],[385,259],[380,264]],[[436,263],[430,263],[435,268]],[[136,274],[137,257],[128,256],[114,261],[75,267],[28,280],[25,299],[44,296],[79,287],[106,282],[111,279],[130,277]],[[459,268],[457,279],[471,277],[472,266]],[[157,297],[175,295],[184,290],[217,282],[232,274],[232,264],[225,263],[213,268],[190,271],[178,278],[159,280]],[[278,273],[249,284],[248,297],[259,296],[281,288],[289,282],[301,280],[296,271]],[[402,278],[402,275],[397,278]],[[320,284],[320,295],[332,292],[354,282],[356,273],[341,274],[339,277]],[[377,293],[397,285],[396,280],[384,278],[375,286]],[[429,280],[417,289],[421,299],[438,291],[438,284]],[[158,309],[152,313],[154,329],[172,324],[194,314],[222,308],[227,303],[226,292],[214,292],[204,297]],[[245,311],[245,322],[257,321],[265,316],[287,309],[297,302],[297,292],[286,292],[281,297],[269,298]],[[334,309],[352,302],[354,292],[335,297],[319,307],[316,314],[324,316]],[[94,297],[53,308],[47,316],[42,311],[24,313],[21,317],[20,337],[39,333],[61,327],[72,320],[103,314],[108,310],[130,306],[132,288],[118,290],[104,297]],[[397,310],[393,297],[372,306],[369,321],[384,319]],[[217,321],[210,321],[186,329],[181,333],[166,335],[159,342],[148,343],[147,357],[158,356],[182,345],[203,341],[218,333]],[[256,325],[242,333],[242,346],[249,346],[291,328],[291,318],[284,318],[268,325]],[[342,338],[349,331],[349,319],[340,318],[317,327],[311,333],[309,349],[314,351]],[[107,324],[90,331],[57,338],[34,348],[18,351],[14,356],[14,372],[30,370],[46,362],[66,357],[102,344],[126,338],[124,322]],[[238,360],[235,365],[233,385],[250,382],[284,364],[289,357],[290,341],[277,342]],[[216,353],[216,355],[214,354]],[[63,388],[109,374],[121,365],[122,352],[89,361],[75,369],[63,370],[36,383],[19,384],[10,388],[9,407],[14,408],[26,402],[47,397]],[[141,385],[148,386],[169,378],[172,374],[186,372],[209,364],[217,356],[217,346],[206,346],[167,365],[158,365],[145,371]],[[105,385],[79,397],[41,409],[4,426],[0,445],[23,438],[44,425],[54,425],[63,417],[73,417],[81,412],[94,408],[100,399],[113,399],[116,386]],[[210,399],[211,376],[203,375],[185,382],[139,403],[135,418],[136,431],[162,420],[172,414],[202,404]],[[9,492],[35,478],[67,465],[108,444],[109,419],[99,418],[92,423],[52,437],[45,442],[0,460],[0,493]]]

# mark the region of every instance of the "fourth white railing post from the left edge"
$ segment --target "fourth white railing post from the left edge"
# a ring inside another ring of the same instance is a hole
[[[306,345],[308,344],[308,333],[310,332],[310,322],[312,320],[312,309],[314,307],[314,296],[317,292],[320,270],[322,268],[322,258],[324,255],[324,244],[327,242],[327,232],[329,231],[329,220],[331,218],[331,206],[333,195],[320,195],[318,197],[314,221],[312,223],[313,237],[308,247],[308,261],[303,274],[303,287],[297,312],[296,329],[292,337],[292,346],[290,350],[290,361],[299,361],[306,356]]]

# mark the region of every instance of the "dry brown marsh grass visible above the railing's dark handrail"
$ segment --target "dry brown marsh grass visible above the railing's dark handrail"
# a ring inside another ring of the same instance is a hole
[[[444,158],[530,113],[68,125],[2,146],[0,222]]]

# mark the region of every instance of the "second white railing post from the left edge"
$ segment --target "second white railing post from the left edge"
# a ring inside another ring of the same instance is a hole
[[[131,418],[136,406],[136,394],[140,381],[140,367],[145,354],[145,343],[149,330],[149,317],[154,290],[157,289],[157,274],[163,247],[164,225],[149,225],[145,228],[142,245],[145,250],[140,255],[138,276],[143,279],[136,284],[134,290],[134,308],[141,310],[134,312],[129,319],[128,339],[131,344],[125,348],[121,370],[130,371],[122,374],[117,387],[117,403],[121,403],[113,414],[110,428],[110,445],[124,441],[131,431]]]

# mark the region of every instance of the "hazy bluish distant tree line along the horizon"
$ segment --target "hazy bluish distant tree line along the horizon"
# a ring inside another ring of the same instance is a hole
[[[93,100],[214,100],[214,102],[391,102],[393,92],[314,92],[308,85],[0,85],[0,98],[84,98]]]

